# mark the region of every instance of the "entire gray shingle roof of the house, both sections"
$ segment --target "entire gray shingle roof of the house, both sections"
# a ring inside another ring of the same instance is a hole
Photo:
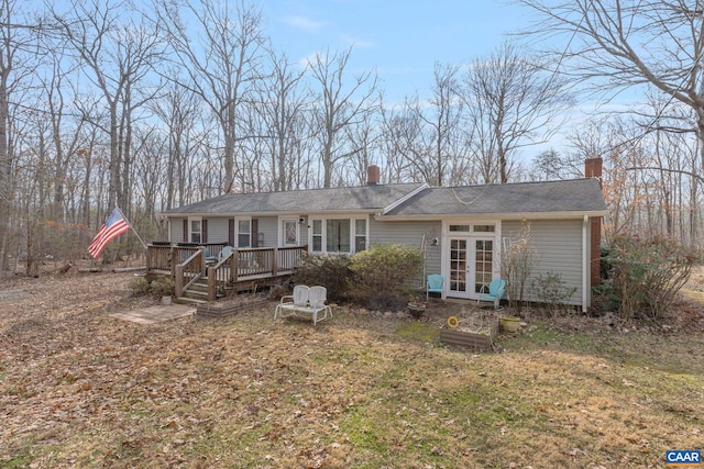
[[[418,189],[419,183],[230,193],[164,214],[256,214],[381,211]],[[426,188],[386,216],[606,212],[594,178],[454,188]]]

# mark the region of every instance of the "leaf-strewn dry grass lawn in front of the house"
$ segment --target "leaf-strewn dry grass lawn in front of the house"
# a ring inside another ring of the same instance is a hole
[[[704,449],[701,331],[529,321],[475,354],[342,306],[316,327],[273,323],[274,302],[139,325],[110,316],[154,301],[130,277],[1,286],[0,466],[625,468]]]

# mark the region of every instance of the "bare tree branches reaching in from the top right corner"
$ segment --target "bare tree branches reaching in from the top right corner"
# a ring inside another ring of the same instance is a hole
[[[532,34],[562,35],[552,51],[565,72],[614,98],[625,88],[652,87],[689,108],[704,164],[703,0],[518,0],[540,15]],[[646,131],[659,125],[651,116]],[[671,130],[681,132],[682,127]],[[686,127],[684,127],[686,130]],[[634,142],[637,145],[638,142]]]

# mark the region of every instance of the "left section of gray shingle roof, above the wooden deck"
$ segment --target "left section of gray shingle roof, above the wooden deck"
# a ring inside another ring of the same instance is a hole
[[[167,210],[164,214],[375,211],[388,206],[420,186],[399,183],[287,192],[228,193]]]

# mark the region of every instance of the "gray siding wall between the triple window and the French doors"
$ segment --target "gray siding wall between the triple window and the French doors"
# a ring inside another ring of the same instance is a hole
[[[429,238],[442,238],[442,223],[438,222],[378,222],[370,217],[370,246],[374,244],[400,243],[420,248],[422,237],[429,233]],[[440,244],[426,244],[426,273],[442,273],[440,269]]]

